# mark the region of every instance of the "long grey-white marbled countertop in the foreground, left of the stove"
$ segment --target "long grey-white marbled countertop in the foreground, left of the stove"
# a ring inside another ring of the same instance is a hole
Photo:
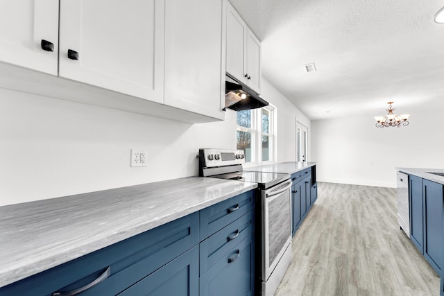
[[[0,287],[256,187],[187,177],[0,207]]]

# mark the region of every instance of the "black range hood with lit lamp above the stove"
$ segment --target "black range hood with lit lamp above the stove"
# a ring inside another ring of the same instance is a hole
[[[227,74],[225,76],[225,108],[234,111],[250,110],[268,106],[268,102],[239,82],[239,80]]]

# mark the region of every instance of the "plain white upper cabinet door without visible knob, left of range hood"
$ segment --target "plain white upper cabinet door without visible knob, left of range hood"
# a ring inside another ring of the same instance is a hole
[[[165,18],[164,103],[223,119],[222,0],[166,0]]]

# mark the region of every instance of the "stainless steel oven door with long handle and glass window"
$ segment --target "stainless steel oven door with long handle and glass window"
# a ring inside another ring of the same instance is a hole
[[[291,180],[262,191],[262,279],[268,280],[291,243]]]

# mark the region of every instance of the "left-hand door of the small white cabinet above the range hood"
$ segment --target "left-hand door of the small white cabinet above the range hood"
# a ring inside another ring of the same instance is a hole
[[[247,26],[236,10],[227,5],[227,73],[246,83],[246,33]]]

